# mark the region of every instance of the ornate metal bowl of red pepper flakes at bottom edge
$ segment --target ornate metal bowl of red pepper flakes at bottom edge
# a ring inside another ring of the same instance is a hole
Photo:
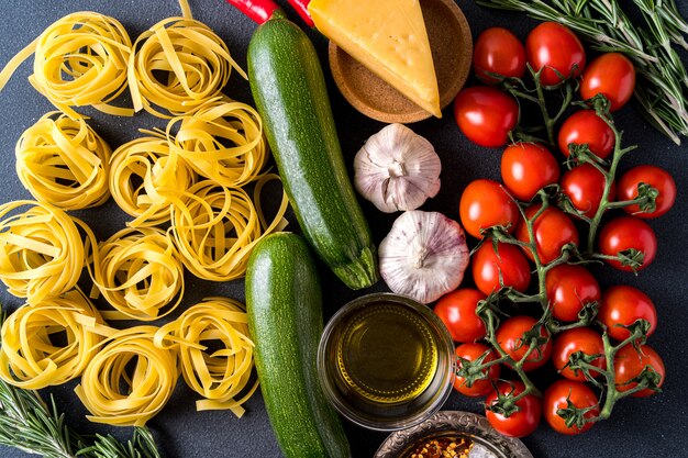
[[[441,411],[390,434],[374,458],[533,458],[523,443],[499,434],[482,415]]]

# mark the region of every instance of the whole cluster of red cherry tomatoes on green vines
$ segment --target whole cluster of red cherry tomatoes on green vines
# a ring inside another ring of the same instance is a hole
[[[577,36],[547,22],[525,46],[508,30],[486,30],[474,69],[489,86],[459,92],[457,125],[478,145],[506,148],[502,182],[475,180],[459,199],[460,222],[479,241],[470,266],[476,289],[435,305],[459,344],[454,386],[486,395],[486,415],[502,434],[531,434],[543,416],[557,432],[579,434],[609,416],[618,399],[650,395],[664,380],[661,357],[645,344],[657,325],[652,300],[631,286],[602,291],[586,264],[646,268],[657,239],[644,220],[672,208],[676,185],[653,165],[617,179],[632,149],[621,146],[610,114],[635,85],[623,55],[588,63]],[[536,89],[524,92],[526,77]],[[552,118],[543,99],[550,93],[568,93]],[[572,93],[581,102],[572,104]],[[529,101],[542,110],[545,141],[520,136]],[[548,364],[561,378],[541,392],[530,373]]]

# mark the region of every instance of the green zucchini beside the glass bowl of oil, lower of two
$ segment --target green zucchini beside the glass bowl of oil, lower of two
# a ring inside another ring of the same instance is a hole
[[[339,414],[318,378],[322,297],[302,237],[271,234],[254,247],[246,270],[246,311],[260,391],[285,456],[351,457]]]

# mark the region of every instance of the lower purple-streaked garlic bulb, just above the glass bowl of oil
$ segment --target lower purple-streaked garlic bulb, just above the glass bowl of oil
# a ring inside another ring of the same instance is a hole
[[[442,213],[402,213],[379,246],[380,275],[390,290],[421,303],[454,291],[468,267],[462,226]]]

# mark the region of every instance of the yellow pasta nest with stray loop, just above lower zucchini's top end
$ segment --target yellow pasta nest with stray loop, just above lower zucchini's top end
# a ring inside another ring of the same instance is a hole
[[[260,191],[274,174],[263,176],[254,202],[241,188],[230,189],[203,180],[189,189],[189,200],[171,205],[170,231],[184,264],[195,276],[211,281],[243,277],[253,246],[266,234],[281,231],[288,200],[282,199],[269,225],[260,208]]]

